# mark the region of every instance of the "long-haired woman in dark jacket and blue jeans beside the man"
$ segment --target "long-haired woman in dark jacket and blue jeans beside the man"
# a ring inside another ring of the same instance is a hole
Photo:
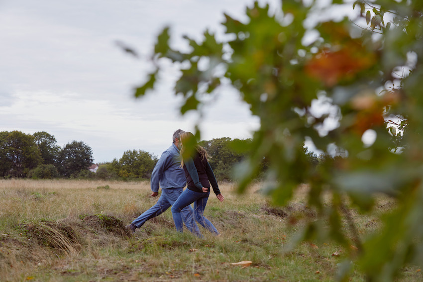
[[[181,142],[181,167],[184,168],[188,187],[172,205],[171,210],[176,230],[183,232],[181,210],[194,203],[194,217],[196,221],[210,232],[219,235],[212,222],[204,217],[203,214],[210,195],[210,184],[212,184],[213,192],[219,201],[222,202],[224,200],[212,168],[207,161],[209,155],[203,147],[197,144],[195,136],[191,132],[181,135]]]

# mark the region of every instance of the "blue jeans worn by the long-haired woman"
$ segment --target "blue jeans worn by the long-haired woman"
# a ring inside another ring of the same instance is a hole
[[[219,232],[214,227],[209,219],[204,217],[204,209],[206,208],[207,200],[209,199],[210,192],[195,192],[190,189],[185,189],[178,199],[172,205],[172,216],[175,222],[176,230],[183,232],[183,221],[181,211],[184,207],[194,203],[194,218],[204,228],[210,232],[218,235]]]

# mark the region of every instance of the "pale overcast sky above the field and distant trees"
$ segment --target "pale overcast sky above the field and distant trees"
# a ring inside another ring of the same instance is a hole
[[[0,131],[46,131],[58,145],[83,141],[96,163],[126,150],[160,156],[181,117],[169,69],[153,94],[133,97],[145,78],[147,56],[165,25],[175,41],[222,33],[223,12],[242,19],[250,0],[0,0]],[[264,1],[262,1],[264,2]],[[279,0],[268,0],[271,7]],[[116,40],[140,54],[124,53]],[[249,138],[259,125],[238,94],[223,89],[202,123],[202,139]]]

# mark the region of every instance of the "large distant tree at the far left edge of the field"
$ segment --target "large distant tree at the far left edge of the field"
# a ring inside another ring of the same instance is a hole
[[[29,134],[3,131],[0,142],[2,176],[26,177],[42,161],[34,137]]]

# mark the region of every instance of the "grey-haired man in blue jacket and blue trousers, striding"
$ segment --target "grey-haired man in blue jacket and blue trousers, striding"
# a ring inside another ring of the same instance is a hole
[[[152,197],[158,195],[159,187],[162,188],[162,194],[155,205],[138,216],[130,225],[126,225],[127,229],[135,232],[136,228],[140,228],[147,220],[156,217],[167,210],[179,195],[183,192],[187,184],[184,170],[180,167],[181,160],[179,150],[181,148],[181,135],[185,131],[178,129],[173,133],[173,143],[166,151],[163,152],[159,161],[153,169],[151,175],[150,187],[153,191]],[[182,209],[182,219],[185,226],[194,234],[201,236],[200,229],[194,221],[193,208],[191,205]]]

